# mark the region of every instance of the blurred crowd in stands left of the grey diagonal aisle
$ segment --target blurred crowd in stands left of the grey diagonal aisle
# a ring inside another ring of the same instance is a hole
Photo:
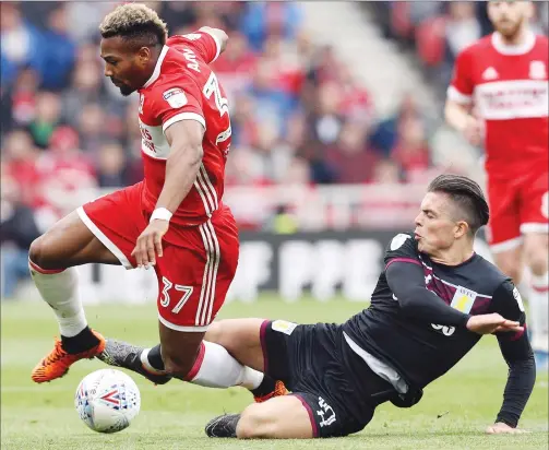
[[[13,276],[26,272],[28,244],[76,206],[83,189],[143,177],[138,96],[122,97],[99,58],[98,24],[116,4],[2,2],[1,236]],[[305,32],[299,3],[147,4],[170,34],[208,25],[230,37],[213,64],[231,106],[227,186],[313,190],[426,177],[430,150],[413,96],[393,117],[375,117],[351,68]]]

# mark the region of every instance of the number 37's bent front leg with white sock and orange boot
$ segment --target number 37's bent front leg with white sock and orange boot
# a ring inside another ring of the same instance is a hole
[[[61,340],[35,367],[32,378],[36,382],[51,381],[67,374],[76,360],[92,358],[105,347],[103,336],[87,325],[74,265],[120,262],[89,232],[76,212],[36,239],[28,259],[33,281],[53,310],[61,333]]]

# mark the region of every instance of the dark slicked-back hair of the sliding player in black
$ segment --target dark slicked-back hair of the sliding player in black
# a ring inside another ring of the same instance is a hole
[[[473,236],[490,218],[482,189],[470,178],[452,174],[439,175],[430,182],[427,191],[447,194],[465,215]]]

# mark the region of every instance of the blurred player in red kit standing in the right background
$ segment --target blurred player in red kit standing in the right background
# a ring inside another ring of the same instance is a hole
[[[518,283],[532,272],[530,331],[538,363],[548,353],[548,56],[528,26],[528,1],[490,1],[496,32],[463,50],[445,117],[474,145],[484,143],[497,264]]]

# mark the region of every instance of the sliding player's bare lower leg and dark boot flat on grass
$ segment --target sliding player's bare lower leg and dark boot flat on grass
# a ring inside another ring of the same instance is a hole
[[[311,415],[299,396],[254,403],[241,414],[215,417],[205,428],[212,438],[310,439],[317,437]]]

